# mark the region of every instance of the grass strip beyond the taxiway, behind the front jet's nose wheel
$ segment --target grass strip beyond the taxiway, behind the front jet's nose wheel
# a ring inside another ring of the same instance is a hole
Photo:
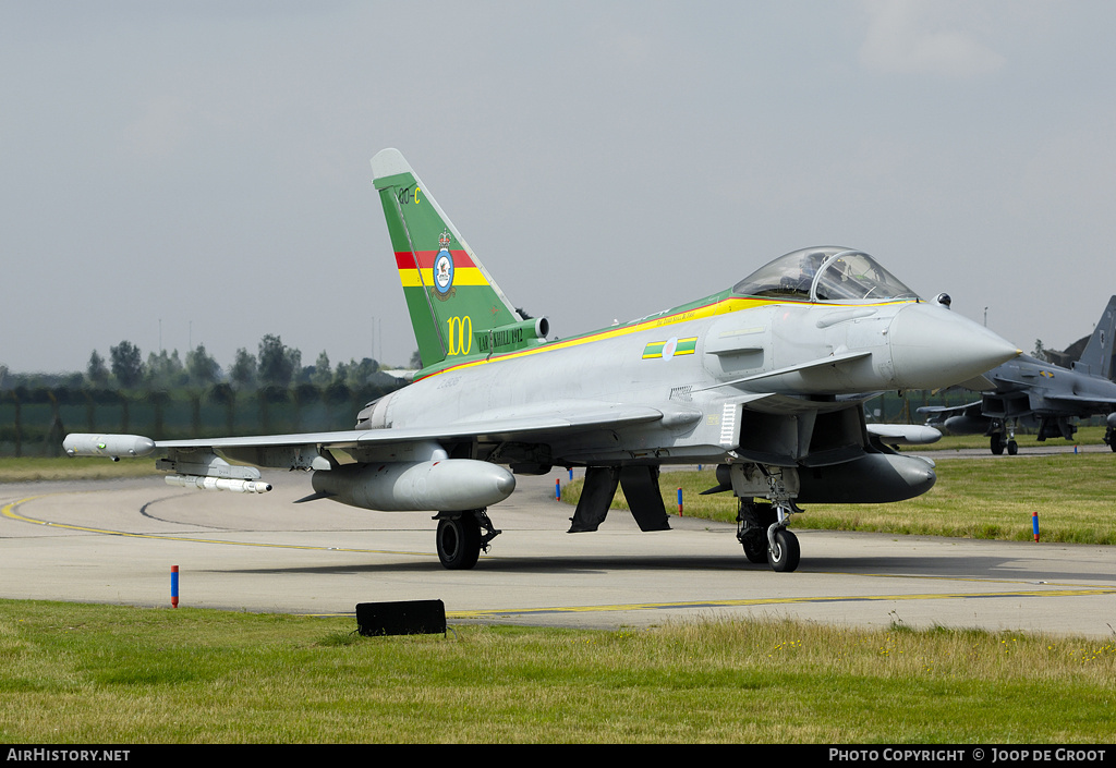
[[[886,505],[805,505],[791,525],[826,530],[952,536],[1024,541],[1033,538],[1031,515],[1039,516],[1043,541],[1116,544],[1116,457],[1066,453],[1048,457],[944,459],[937,482],[923,496]],[[663,472],[660,488],[667,511],[732,522],[737,500],[731,492],[701,496],[716,486],[712,469]],[[562,488],[562,501],[576,505],[581,480]],[[622,490],[615,509],[627,509]]]

